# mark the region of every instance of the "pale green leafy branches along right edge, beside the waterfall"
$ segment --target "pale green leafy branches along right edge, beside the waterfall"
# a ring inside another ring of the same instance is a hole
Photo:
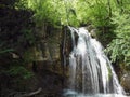
[[[129,14],[115,12],[112,23],[116,25],[116,38],[107,47],[113,61],[122,61],[130,69],[130,17]]]

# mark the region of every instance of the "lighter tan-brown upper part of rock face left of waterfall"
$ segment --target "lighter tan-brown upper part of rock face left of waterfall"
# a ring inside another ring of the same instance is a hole
[[[60,58],[61,29],[43,28],[37,30],[39,40],[35,48],[35,59],[37,60],[55,60]]]

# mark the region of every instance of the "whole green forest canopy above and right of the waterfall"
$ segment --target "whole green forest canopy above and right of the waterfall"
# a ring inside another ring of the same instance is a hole
[[[98,28],[113,61],[130,68],[130,0],[28,0],[36,23]]]

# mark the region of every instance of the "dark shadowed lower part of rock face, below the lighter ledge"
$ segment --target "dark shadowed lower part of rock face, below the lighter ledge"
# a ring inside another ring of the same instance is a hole
[[[60,63],[57,61],[37,63],[38,68],[37,72],[35,73],[35,78],[27,83],[29,92],[32,92],[40,87],[42,91],[39,95],[36,95],[36,97],[46,97],[46,95],[49,97],[51,95],[60,96],[63,91],[64,77],[62,75],[62,69],[58,67],[58,64]]]

